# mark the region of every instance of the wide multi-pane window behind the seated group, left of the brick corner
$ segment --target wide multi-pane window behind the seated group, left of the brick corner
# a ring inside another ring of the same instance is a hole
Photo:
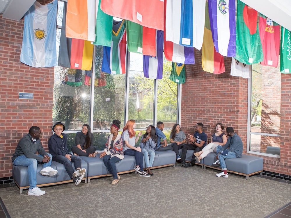
[[[58,1],[57,48],[62,18],[63,1]],[[148,125],[163,121],[164,132],[169,131],[178,119],[178,85],[169,80],[171,62],[164,58],[163,79],[153,80],[143,76],[140,54],[130,53],[127,74],[120,75],[101,71],[102,56],[103,47],[95,46],[92,71],[55,67],[53,124],[65,124],[69,150],[84,123],[91,126],[97,150],[104,149],[113,119],[121,121],[120,131],[126,117],[136,121],[136,130],[144,132]]]

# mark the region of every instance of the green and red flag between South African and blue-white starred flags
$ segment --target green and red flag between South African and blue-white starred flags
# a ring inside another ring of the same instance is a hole
[[[125,21],[125,26],[128,51],[155,56],[156,30],[141,26],[129,20]]]

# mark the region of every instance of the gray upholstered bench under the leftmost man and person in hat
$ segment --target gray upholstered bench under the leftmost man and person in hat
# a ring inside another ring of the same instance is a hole
[[[74,163],[72,163],[72,166],[74,168]],[[56,169],[58,173],[54,176],[42,176],[40,174],[40,170],[42,169],[42,165],[38,164],[37,167],[37,174],[36,174],[36,179],[37,179],[37,186],[42,187],[42,186],[48,186],[48,185],[58,185],[58,184],[63,184],[63,183],[70,183],[73,180],[70,178],[68,175],[65,167],[63,164],[52,161],[52,168]],[[82,160],[81,162],[81,167],[85,168],[87,171],[87,163]],[[20,189],[20,194],[22,194],[23,189],[29,188],[29,180],[28,180],[28,175],[27,175],[27,169],[28,167],[24,166],[15,166],[13,165],[12,168],[12,177],[13,181],[16,183],[16,185]],[[85,174],[83,180],[86,183],[87,181],[87,173]]]

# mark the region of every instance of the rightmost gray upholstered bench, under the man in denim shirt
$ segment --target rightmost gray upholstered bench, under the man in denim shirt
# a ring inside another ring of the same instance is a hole
[[[209,153],[204,160],[204,168],[210,167],[213,169],[220,169],[221,167],[212,167],[212,164],[216,161],[216,153]],[[239,174],[242,176],[246,176],[246,179],[249,179],[249,176],[262,173],[263,171],[263,158],[243,154],[241,158],[232,158],[226,159],[226,168],[230,173]]]

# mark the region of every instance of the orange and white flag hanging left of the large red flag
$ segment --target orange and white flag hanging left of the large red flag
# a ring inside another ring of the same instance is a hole
[[[96,0],[68,1],[66,37],[94,42],[97,6]]]

